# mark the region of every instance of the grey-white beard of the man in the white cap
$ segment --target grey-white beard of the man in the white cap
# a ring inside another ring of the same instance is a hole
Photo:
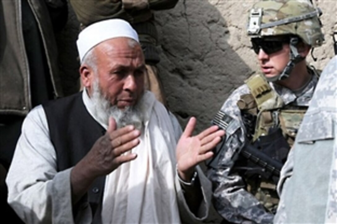
[[[141,97],[135,105],[125,107],[125,109],[121,110],[116,105],[111,105],[107,97],[102,94],[98,79],[95,78],[91,100],[95,105],[94,114],[100,122],[109,125],[109,118],[113,117],[116,121],[117,128],[131,124],[139,130],[142,129],[143,97]]]

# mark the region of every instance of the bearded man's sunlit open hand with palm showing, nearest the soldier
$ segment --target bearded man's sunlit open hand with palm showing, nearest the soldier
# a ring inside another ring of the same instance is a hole
[[[213,156],[211,150],[225,134],[224,130],[214,125],[192,136],[195,124],[195,117],[190,118],[176,148],[178,175],[187,182],[192,178],[194,167]]]

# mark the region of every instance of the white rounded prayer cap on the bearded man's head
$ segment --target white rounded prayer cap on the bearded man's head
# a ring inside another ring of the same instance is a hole
[[[125,20],[103,20],[86,27],[76,41],[82,63],[86,53],[97,44],[115,37],[129,37],[139,43],[137,32]]]

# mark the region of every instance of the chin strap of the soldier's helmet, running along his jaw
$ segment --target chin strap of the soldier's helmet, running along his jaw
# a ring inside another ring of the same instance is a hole
[[[305,57],[302,57],[299,53],[298,53],[298,50],[297,50],[297,47],[296,45],[298,44],[299,42],[299,38],[298,37],[291,37],[290,38],[290,43],[289,43],[289,46],[290,46],[290,60],[287,64],[287,66],[283,69],[282,73],[278,76],[275,76],[275,77],[271,77],[271,78],[267,78],[267,80],[269,82],[275,82],[275,81],[278,81],[278,80],[284,80],[286,78],[289,77],[290,73],[292,72],[294,66],[303,61],[305,59]]]

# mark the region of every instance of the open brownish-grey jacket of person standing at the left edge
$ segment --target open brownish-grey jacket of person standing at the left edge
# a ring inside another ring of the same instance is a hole
[[[25,1],[38,25],[54,98],[61,97],[57,48],[48,8],[41,0]],[[53,7],[57,8],[60,1],[49,2],[55,3]],[[0,114],[26,115],[33,107],[31,74],[23,35],[23,22],[29,21],[21,20],[21,7],[21,0],[0,2]]]

